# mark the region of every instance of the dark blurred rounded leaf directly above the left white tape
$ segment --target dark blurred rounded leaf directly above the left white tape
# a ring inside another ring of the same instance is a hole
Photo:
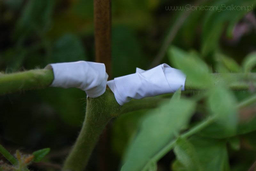
[[[74,34],[64,34],[57,41],[55,41],[52,48],[52,58],[49,63],[86,61],[82,41]]]

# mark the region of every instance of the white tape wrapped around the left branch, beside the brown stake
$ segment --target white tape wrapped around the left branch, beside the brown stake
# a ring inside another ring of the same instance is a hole
[[[108,74],[104,63],[68,62],[53,63],[45,67],[53,70],[53,87],[76,87],[84,90],[89,97],[98,97],[106,91]]]

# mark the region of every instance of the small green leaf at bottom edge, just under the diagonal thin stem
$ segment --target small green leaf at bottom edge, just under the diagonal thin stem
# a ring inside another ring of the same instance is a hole
[[[178,138],[175,143],[174,153],[179,162],[185,166],[186,170],[200,171],[201,163],[194,146],[185,138]]]

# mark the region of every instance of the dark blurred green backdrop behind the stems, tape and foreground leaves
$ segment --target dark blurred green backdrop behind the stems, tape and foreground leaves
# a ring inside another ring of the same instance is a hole
[[[248,7],[255,5],[255,1],[112,1],[113,77],[131,74],[136,67],[152,66],[168,33],[179,23],[177,33],[172,32],[171,44],[195,51],[213,72],[235,72],[236,67],[226,66],[225,60],[241,64],[244,56],[255,51],[255,10],[188,12],[167,8],[187,4]],[[94,54],[92,0],[0,1],[0,71],[11,73],[44,68],[48,63],[94,61]],[[172,66],[167,56],[160,61]],[[245,92],[237,92],[238,99],[246,96]],[[20,149],[29,153],[50,147],[45,162],[57,166],[32,167],[58,170],[78,135],[85,106],[85,93],[73,88],[50,87],[1,96],[0,144],[11,152]],[[87,169],[117,170],[144,114],[142,110],[112,120]],[[159,161],[158,170],[170,170],[173,158],[172,152],[165,156]]]

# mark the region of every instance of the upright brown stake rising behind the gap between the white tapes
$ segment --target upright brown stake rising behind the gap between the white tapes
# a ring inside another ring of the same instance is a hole
[[[94,0],[93,2],[96,62],[105,63],[106,72],[111,78],[111,0]]]

